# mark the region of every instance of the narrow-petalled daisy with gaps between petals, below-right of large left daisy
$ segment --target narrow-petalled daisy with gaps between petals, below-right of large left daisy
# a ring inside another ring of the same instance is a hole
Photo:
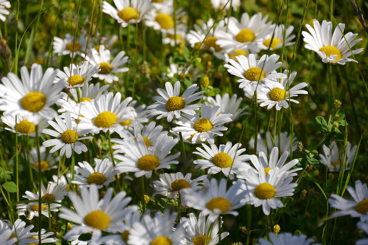
[[[49,139],[42,143],[45,147],[54,146],[50,153],[56,152],[60,150],[60,156],[63,156],[66,153],[66,157],[70,158],[72,150],[75,153],[81,154],[82,152],[87,152],[87,147],[79,142],[82,139],[92,139],[91,136],[81,137],[85,134],[91,132],[91,129],[86,129],[82,126],[77,127],[77,125],[72,126],[71,117],[69,113],[65,113],[65,120],[63,121],[60,117],[55,118],[54,121],[47,121],[56,131],[52,129],[43,129],[42,132],[44,134],[49,134],[53,137],[57,137],[59,139]]]

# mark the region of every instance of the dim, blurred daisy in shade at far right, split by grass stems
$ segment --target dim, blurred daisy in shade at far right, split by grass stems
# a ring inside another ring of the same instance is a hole
[[[350,164],[354,160],[354,155],[355,155],[355,151],[357,150],[357,147],[358,146],[355,145],[353,146],[353,148],[351,148],[351,143],[347,142],[347,145],[346,145],[347,155],[346,155],[344,171],[347,171],[350,169]],[[327,166],[330,172],[339,172],[340,165],[343,164],[343,162],[341,161],[344,161],[345,156],[342,155],[342,157],[340,158],[339,148],[337,147],[336,141],[331,142],[331,148],[328,148],[325,145],[323,145],[322,148],[323,148],[324,155],[318,154],[318,156],[320,157],[319,162]]]

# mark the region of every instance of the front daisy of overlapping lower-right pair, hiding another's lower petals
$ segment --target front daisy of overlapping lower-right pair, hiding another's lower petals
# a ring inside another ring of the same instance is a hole
[[[269,215],[271,208],[284,206],[277,198],[294,195],[294,188],[298,184],[291,183],[293,178],[288,178],[288,175],[289,173],[280,171],[278,167],[269,170],[267,177],[263,168],[260,168],[258,173],[249,169],[248,173],[243,175],[247,189],[250,190],[250,196],[247,198],[250,198],[255,207],[262,205],[263,213]]]

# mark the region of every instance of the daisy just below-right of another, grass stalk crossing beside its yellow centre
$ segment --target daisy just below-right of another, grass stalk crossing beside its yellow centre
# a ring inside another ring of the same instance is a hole
[[[288,71],[284,70],[284,74],[287,75],[287,73]],[[296,71],[291,72],[289,77],[289,87],[296,75]],[[271,109],[274,105],[276,105],[276,110],[279,111],[282,107],[289,108],[289,100],[290,102],[299,104],[297,100],[290,99],[290,97],[298,96],[299,94],[308,94],[307,91],[302,90],[302,88],[308,86],[308,84],[305,82],[301,82],[300,84],[295,85],[293,88],[290,88],[290,93],[288,89],[287,78],[282,78],[280,83],[282,88],[264,88],[257,94],[258,102],[261,103],[261,106],[267,106],[267,109]]]

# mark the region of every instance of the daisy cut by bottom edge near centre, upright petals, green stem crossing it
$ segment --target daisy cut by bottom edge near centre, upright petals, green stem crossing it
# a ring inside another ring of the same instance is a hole
[[[210,214],[211,216],[212,214]],[[220,217],[222,226],[222,218]],[[189,214],[188,218],[181,218],[181,223],[187,223],[187,237],[181,240],[183,245],[197,245],[205,244],[207,240],[208,245],[216,245],[219,242],[219,220],[216,219],[215,222],[210,222],[207,220],[203,212],[199,213],[198,220],[194,213]],[[229,235],[229,232],[221,233],[221,240]]]

